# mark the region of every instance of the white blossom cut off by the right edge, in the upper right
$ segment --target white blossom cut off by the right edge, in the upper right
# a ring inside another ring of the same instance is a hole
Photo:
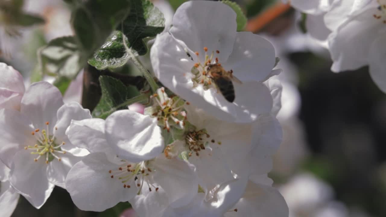
[[[372,79],[386,92],[385,32],[386,1],[373,0],[330,35],[331,70],[356,70],[368,64]]]

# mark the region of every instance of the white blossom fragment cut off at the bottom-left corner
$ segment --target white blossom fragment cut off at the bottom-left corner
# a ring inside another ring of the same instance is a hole
[[[4,217],[12,215],[20,196],[10,185],[8,175],[9,168],[0,161],[0,216]]]

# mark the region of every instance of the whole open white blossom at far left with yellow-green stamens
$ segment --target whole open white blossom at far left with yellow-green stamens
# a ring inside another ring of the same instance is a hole
[[[55,185],[65,187],[71,166],[87,154],[64,134],[71,119],[90,118],[78,103],[63,104],[58,88],[41,81],[24,93],[20,111],[0,110],[0,159],[10,168],[9,181],[40,208]]]

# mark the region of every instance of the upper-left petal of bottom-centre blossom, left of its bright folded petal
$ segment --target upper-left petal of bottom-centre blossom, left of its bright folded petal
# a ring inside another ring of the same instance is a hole
[[[91,153],[111,153],[111,147],[105,139],[105,120],[103,119],[73,120],[66,135],[76,147],[85,148]]]

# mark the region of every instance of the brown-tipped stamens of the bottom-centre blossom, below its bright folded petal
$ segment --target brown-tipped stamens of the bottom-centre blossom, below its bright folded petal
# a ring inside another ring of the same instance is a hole
[[[109,170],[108,173],[111,174],[110,178],[117,178],[123,184],[124,188],[131,188],[132,180],[134,179],[135,185],[139,188],[138,195],[141,193],[142,186],[144,185],[144,181],[146,181],[149,191],[152,191],[152,188],[158,191],[158,187],[154,186],[149,177],[152,173],[154,173],[154,168],[152,169],[149,165],[150,161],[142,161],[137,164],[127,163],[127,161],[122,164],[118,170]]]

